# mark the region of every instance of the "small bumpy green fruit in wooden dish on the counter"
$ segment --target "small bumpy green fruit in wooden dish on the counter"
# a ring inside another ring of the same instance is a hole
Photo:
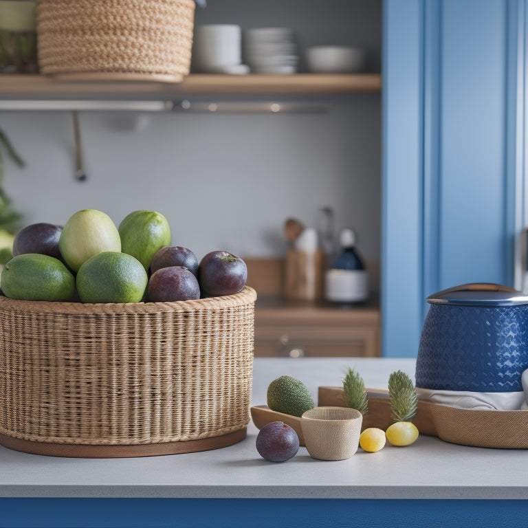
[[[303,412],[314,408],[314,400],[303,382],[281,376],[267,387],[267,406],[276,412],[302,416]]]

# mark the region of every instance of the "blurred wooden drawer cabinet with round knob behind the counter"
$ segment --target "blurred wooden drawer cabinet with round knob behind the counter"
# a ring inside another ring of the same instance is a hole
[[[380,311],[375,306],[259,304],[255,309],[255,355],[380,355]]]

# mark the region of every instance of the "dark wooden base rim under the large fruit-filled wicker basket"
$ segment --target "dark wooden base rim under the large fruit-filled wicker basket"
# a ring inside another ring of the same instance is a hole
[[[113,459],[133,456],[194,453],[226,448],[245,439],[247,428],[219,437],[188,440],[185,442],[146,443],[140,445],[87,445],[74,443],[34,442],[0,433],[0,444],[5,448],[47,456],[68,456],[83,459]]]

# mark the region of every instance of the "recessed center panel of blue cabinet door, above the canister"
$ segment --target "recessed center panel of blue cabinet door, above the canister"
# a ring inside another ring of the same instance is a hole
[[[506,2],[443,0],[438,289],[506,269]],[[434,292],[425,292],[431,294]]]

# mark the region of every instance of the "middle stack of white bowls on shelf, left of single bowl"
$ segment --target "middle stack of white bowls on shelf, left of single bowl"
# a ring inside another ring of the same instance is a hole
[[[294,32],[289,28],[245,30],[243,58],[256,74],[294,74],[298,66]]]

